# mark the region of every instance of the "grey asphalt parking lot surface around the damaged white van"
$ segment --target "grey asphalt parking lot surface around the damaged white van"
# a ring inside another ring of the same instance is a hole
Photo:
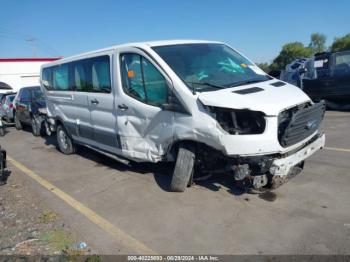
[[[11,176],[31,181],[101,254],[140,246],[159,254],[350,254],[350,113],[327,112],[323,130],[327,148],[267,197],[239,194],[224,175],[169,192],[171,165],[129,167],[86,148],[66,156],[55,136],[34,137],[30,128],[9,127],[0,144],[76,201],[69,205],[10,161]]]

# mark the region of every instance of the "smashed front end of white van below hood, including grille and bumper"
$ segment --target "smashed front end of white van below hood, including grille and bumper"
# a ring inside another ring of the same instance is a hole
[[[302,103],[276,116],[247,109],[209,110],[222,128],[218,136],[222,148],[200,145],[197,168],[200,173],[231,174],[245,189],[279,187],[300,173],[304,160],[325,145],[325,135],[318,131],[324,102]]]

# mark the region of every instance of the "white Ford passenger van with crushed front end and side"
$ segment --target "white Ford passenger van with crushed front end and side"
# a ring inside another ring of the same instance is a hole
[[[220,42],[113,46],[43,65],[41,86],[60,151],[175,161],[173,191],[217,172],[275,188],[325,144],[323,102]]]

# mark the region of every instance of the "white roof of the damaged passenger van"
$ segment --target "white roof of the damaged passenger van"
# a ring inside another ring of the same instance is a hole
[[[165,45],[181,45],[181,44],[200,44],[200,43],[213,43],[213,44],[222,44],[222,42],[218,41],[208,41],[208,40],[159,40],[159,41],[147,41],[147,42],[133,42],[133,43],[127,43],[127,44],[120,44],[120,45],[114,45],[102,49],[97,49],[94,51],[89,51],[86,53],[81,53],[78,55],[73,55],[69,57],[65,57],[63,59],[53,61],[51,63],[47,63],[43,65],[42,67],[47,67],[55,64],[61,64],[64,62],[69,62],[70,60],[77,59],[79,57],[83,56],[89,56],[92,54],[100,53],[100,52],[106,52],[109,50],[122,48],[122,47],[140,47],[140,48],[148,48],[148,47],[155,47],[155,46],[165,46]]]

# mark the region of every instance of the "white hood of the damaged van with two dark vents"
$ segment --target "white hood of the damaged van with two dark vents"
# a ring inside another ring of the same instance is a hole
[[[283,109],[310,101],[301,89],[277,79],[202,92],[198,99],[207,106],[249,109],[271,116],[278,115]]]

